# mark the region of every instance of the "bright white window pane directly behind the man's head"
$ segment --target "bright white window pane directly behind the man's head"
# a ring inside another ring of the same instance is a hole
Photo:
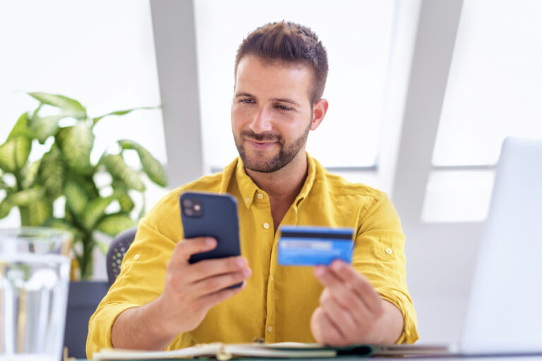
[[[230,105],[239,44],[256,27],[283,19],[311,27],[330,63],[324,93],[330,109],[320,128],[311,132],[308,152],[324,166],[374,165],[394,3],[194,1],[206,169],[221,168],[237,156]]]

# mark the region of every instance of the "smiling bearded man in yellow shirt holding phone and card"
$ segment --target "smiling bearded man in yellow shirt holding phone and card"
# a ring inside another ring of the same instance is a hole
[[[231,128],[239,158],[177,188],[140,221],[121,274],[90,319],[87,351],[195,343],[413,343],[404,235],[383,192],[327,173],[305,152],[323,121],[327,55],[294,23],[258,28],[237,52]],[[179,195],[229,192],[244,257],[189,264],[211,238],[183,240]],[[352,264],[281,267],[280,224],[356,230]],[[181,241],[179,241],[181,240]],[[227,288],[243,283],[241,288]]]

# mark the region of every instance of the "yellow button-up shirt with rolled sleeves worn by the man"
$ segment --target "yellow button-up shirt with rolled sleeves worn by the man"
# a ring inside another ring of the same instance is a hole
[[[241,252],[252,276],[241,293],[212,307],[193,331],[179,334],[167,350],[215,341],[315,342],[309,329],[323,286],[312,267],[277,264],[277,235],[269,197],[247,176],[241,159],[222,173],[204,176],[173,190],[140,221],[121,274],[89,322],[87,353],[110,348],[115,318],[130,307],[155,300],[164,288],[166,265],[183,239],[179,196],[186,190],[228,192],[239,204]],[[352,264],[383,299],[404,316],[398,343],[418,338],[416,314],[405,281],[404,235],[385,193],[328,173],[308,157],[308,176],[281,224],[351,227],[356,230]]]

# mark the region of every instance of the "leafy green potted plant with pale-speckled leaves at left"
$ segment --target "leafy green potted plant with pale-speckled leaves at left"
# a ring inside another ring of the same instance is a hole
[[[166,185],[164,169],[147,149],[131,140],[119,140],[119,152],[104,152],[96,164],[90,160],[96,124],[107,116],[123,116],[135,109],[90,118],[85,107],[74,99],[44,92],[28,94],[40,102],[39,106],[23,113],[0,145],[0,199],[4,194],[0,219],[18,207],[21,226],[71,231],[80,277],[89,279],[92,252],[100,245],[96,231],[114,236],[135,226],[134,218],[145,212],[145,185],[140,173],[124,161],[125,152],[137,152],[145,174],[162,187]],[[58,111],[42,116],[44,105]],[[38,143],[45,153],[41,159],[30,161],[30,151]],[[104,178],[104,173],[110,176],[107,184],[96,183],[95,178]],[[133,194],[138,192],[143,207],[133,217],[131,214],[138,210],[134,209]],[[56,200],[65,200],[62,217],[53,215]]]

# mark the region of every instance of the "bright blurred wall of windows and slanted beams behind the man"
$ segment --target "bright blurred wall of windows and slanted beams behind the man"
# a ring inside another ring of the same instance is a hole
[[[78,99],[90,117],[154,107],[100,121],[91,154],[125,138],[146,147],[169,181],[144,178],[148,210],[236,157],[229,108],[243,37],[274,21],[307,25],[330,63],[330,110],[308,152],[390,195],[421,341],[455,341],[501,142],[542,138],[541,12],[537,0],[1,1],[0,143],[38,105],[26,92]],[[19,225],[16,208],[0,219]]]

